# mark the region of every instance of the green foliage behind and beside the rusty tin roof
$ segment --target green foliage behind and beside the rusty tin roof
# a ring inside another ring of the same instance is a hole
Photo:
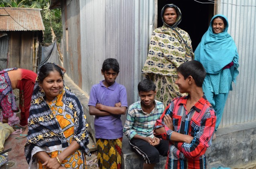
[[[44,41],[50,43],[52,39],[51,26],[60,43],[62,37],[61,9],[49,9],[50,0],[0,0],[0,5],[13,8],[41,8],[41,16],[45,26]]]

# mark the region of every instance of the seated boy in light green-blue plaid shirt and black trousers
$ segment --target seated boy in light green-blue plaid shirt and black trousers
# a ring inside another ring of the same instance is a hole
[[[138,91],[141,100],[129,107],[123,132],[133,151],[144,159],[143,169],[154,169],[159,155],[167,156],[168,152],[168,141],[154,137],[154,125],[164,104],[154,99],[156,85],[152,80],[139,82]]]

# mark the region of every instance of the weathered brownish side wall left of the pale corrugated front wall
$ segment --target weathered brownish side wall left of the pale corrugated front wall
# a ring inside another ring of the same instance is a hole
[[[65,5],[61,4],[63,23],[63,64],[68,75],[80,88],[82,87],[81,75],[81,45],[80,45],[80,11],[78,0],[66,1],[67,18],[65,18]],[[68,46],[67,46],[68,44]]]

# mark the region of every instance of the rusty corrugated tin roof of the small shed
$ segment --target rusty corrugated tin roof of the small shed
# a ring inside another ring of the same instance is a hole
[[[0,8],[0,31],[45,30],[37,8]]]

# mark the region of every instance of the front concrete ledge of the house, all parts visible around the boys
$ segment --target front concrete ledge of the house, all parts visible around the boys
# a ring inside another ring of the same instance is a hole
[[[143,159],[134,153],[123,136],[122,169],[142,168]],[[216,139],[206,151],[209,168],[239,167],[256,161],[255,121],[219,128]],[[160,157],[155,169],[163,169],[166,157]]]

